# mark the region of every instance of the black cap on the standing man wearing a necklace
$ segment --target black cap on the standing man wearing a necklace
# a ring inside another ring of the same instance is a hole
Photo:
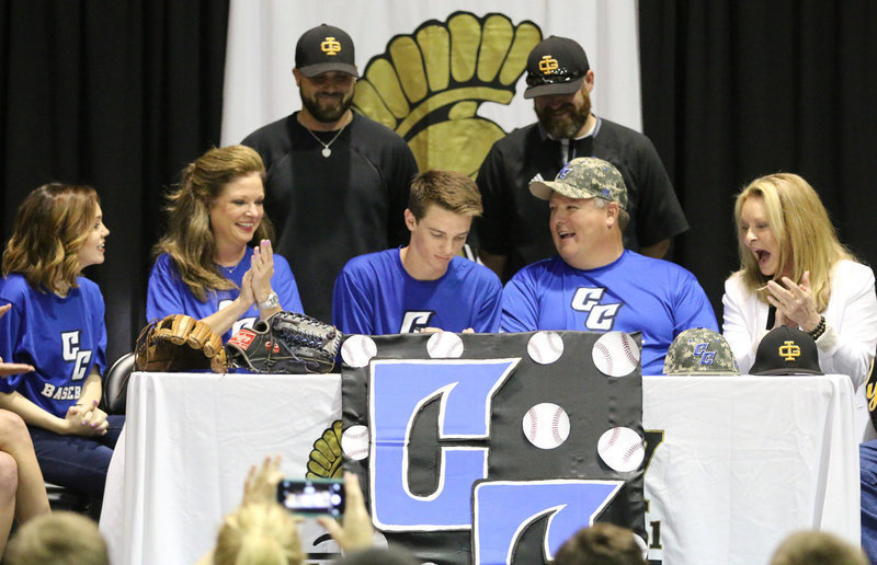
[[[353,39],[346,32],[333,25],[319,25],[298,38],[295,46],[295,67],[308,78],[329,71],[346,72],[360,78]]]

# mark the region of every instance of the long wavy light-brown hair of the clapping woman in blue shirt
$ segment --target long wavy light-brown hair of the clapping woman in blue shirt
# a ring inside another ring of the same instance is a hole
[[[214,263],[216,241],[210,230],[210,206],[226,185],[258,173],[264,182],[265,166],[255,150],[229,146],[208,150],[186,165],[176,189],[168,195],[168,231],[155,247],[155,254],[167,253],[192,295],[202,302],[207,290],[228,290],[236,285],[220,275]],[[254,241],[274,238],[267,216],[253,234]]]

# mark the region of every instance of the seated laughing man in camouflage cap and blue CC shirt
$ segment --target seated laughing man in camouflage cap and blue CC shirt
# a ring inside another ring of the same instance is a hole
[[[524,267],[505,285],[503,332],[642,332],[642,374],[662,374],[676,335],[718,330],[694,275],[624,249],[627,189],[611,163],[573,159],[554,181],[531,183],[529,192],[549,203],[558,255]]]

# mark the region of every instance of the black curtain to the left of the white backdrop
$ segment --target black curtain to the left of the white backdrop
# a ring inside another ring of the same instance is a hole
[[[91,184],[110,229],[90,267],[106,301],[107,361],[145,324],[163,194],[219,143],[228,2],[0,0],[3,244],[49,181]]]

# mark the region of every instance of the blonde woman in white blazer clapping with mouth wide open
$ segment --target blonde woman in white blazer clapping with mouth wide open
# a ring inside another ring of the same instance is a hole
[[[740,269],[725,282],[724,334],[740,371],[781,324],[809,333],[827,373],[858,388],[877,347],[874,272],[838,241],[816,191],[796,174],[756,178],[734,205]]]

